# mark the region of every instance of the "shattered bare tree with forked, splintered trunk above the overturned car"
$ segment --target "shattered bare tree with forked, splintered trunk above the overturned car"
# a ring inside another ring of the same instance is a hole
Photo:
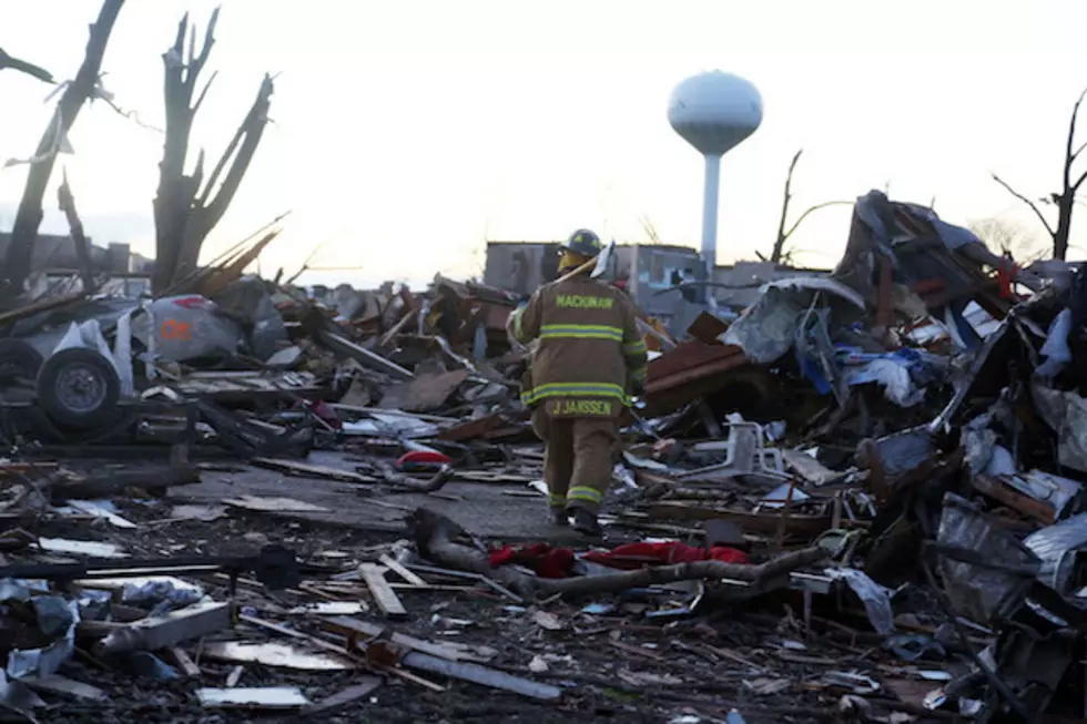
[[[190,28],[186,14],[177,24],[173,47],[163,55],[166,141],[159,166],[159,192],[154,200],[155,268],[152,289],[155,293],[192,276],[201,246],[237,193],[268,122],[273,86],[272,77],[265,75],[253,105],[211,175],[204,179],[203,151],[197,154],[192,173],[185,173],[193,120],[215,80],[213,73],[196,94],[200,73],[215,43],[217,20],[219,9],[212,12],[203,47],[197,53],[196,28]]]

